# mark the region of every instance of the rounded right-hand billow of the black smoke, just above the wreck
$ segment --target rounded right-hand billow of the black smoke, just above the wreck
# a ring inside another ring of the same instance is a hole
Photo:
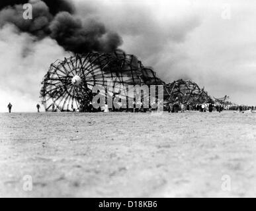
[[[120,37],[107,32],[105,26],[95,20],[82,22],[70,13],[56,15],[50,24],[51,37],[65,50],[75,53],[87,51],[110,52],[121,44]]]

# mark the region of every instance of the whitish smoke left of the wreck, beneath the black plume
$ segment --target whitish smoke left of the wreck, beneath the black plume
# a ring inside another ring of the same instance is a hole
[[[0,111],[6,111],[7,101],[13,104],[14,111],[34,111],[40,82],[50,64],[69,55],[49,37],[34,42],[34,36],[17,33],[15,26],[3,26],[0,30]]]

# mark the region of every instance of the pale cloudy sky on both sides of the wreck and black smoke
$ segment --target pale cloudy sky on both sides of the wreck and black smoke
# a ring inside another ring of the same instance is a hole
[[[256,2],[75,0],[122,37],[121,49],[165,82],[190,79],[210,96],[256,105]],[[50,38],[33,43],[13,26],[0,30],[0,111],[36,111],[50,63],[69,55]],[[22,52],[27,52],[22,57]]]

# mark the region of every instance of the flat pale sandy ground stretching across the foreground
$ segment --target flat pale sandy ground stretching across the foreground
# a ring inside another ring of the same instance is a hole
[[[1,197],[256,196],[256,113],[1,113],[0,128]]]

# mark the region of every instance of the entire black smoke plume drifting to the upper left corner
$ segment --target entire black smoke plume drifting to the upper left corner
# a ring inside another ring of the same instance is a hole
[[[24,20],[24,3],[32,4],[32,20]],[[107,30],[96,20],[79,19],[75,7],[65,0],[17,0],[0,3],[0,27],[14,24],[21,32],[34,36],[35,40],[50,37],[73,53],[89,51],[114,51],[122,40],[118,34]]]

